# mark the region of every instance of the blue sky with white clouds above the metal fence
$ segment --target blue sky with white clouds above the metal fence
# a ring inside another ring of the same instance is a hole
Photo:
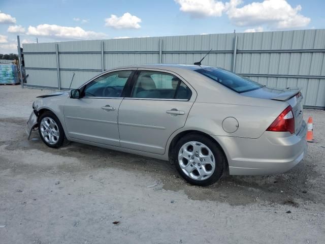
[[[0,53],[25,43],[324,28],[325,1],[1,0]]]

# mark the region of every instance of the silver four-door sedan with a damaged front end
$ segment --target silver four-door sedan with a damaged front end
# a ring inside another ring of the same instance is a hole
[[[298,88],[272,89],[220,68],[141,65],[39,97],[27,123],[44,143],[69,141],[170,160],[190,184],[224,173],[285,172],[305,156]]]

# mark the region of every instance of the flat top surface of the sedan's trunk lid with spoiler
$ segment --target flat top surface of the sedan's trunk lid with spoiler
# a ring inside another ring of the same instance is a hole
[[[253,98],[265,98],[279,101],[286,101],[300,92],[301,88],[287,87],[287,88],[269,88],[263,87],[261,89],[251,90],[250,92],[242,93],[241,95]]]

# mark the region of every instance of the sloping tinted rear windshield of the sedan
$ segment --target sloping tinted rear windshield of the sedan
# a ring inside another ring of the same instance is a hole
[[[237,93],[245,93],[250,90],[256,90],[263,87],[250,79],[241,77],[232,73],[218,68],[205,68],[195,70],[196,72],[209,77],[210,79],[224,85]]]

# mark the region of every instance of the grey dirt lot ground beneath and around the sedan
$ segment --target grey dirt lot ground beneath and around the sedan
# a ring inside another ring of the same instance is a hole
[[[27,141],[31,103],[46,93],[0,86],[1,243],[325,243],[324,111],[305,110],[315,142],[294,169],[202,188],[168,162]]]

